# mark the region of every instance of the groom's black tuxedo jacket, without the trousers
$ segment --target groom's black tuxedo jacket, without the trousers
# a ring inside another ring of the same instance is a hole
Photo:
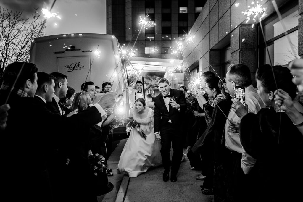
[[[161,131],[161,127],[165,125],[168,120],[175,127],[182,127],[184,123],[184,113],[187,109],[185,95],[182,91],[176,89],[170,89],[171,97],[174,96],[175,101],[180,104],[180,111],[176,108],[172,108],[169,104],[169,111],[165,106],[163,100],[163,94],[159,94],[155,97],[155,114],[154,114],[154,130],[155,133]]]

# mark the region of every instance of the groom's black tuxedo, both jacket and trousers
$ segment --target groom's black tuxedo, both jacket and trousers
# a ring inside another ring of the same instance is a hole
[[[170,89],[170,96],[174,98],[177,104],[180,104],[180,111],[172,108],[170,104],[167,110],[162,93],[155,97],[154,131],[161,134],[163,167],[165,171],[169,171],[171,165],[171,176],[176,176],[183,155],[182,132],[187,105],[182,91]],[[169,120],[171,120],[171,123]],[[172,163],[170,160],[171,144],[174,151]]]

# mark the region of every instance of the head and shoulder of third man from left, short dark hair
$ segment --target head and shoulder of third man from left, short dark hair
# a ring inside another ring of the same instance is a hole
[[[60,72],[53,72],[50,75],[54,76],[55,79],[55,93],[51,102],[47,103],[47,108],[53,113],[63,114],[62,109],[59,105],[59,101],[66,97],[67,92],[67,76]]]

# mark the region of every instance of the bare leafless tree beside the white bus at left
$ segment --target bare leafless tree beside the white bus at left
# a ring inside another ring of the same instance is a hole
[[[38,19],[42,14],[37,10],[33,10],[31,18],[23,19],[22,12],[0,7],[0,84],[6,66],[15,61],[28,61],[32,40],[45,36],[43,21]]]

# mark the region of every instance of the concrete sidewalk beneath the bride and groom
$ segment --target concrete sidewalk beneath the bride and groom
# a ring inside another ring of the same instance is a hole
[[[163,167],[149,169],[145,174],[129,178],[127,175],[117,174],[120,154],[127,139],[120,141],[108,159],[108,168],[113,170],[114,176],[108,181],[114,184],[114,189],[98,198],[102,202],[141,202],[141,201],[211,201],[213,196],[204,195],[200,185],[203,181],[196,180],[201,171],[191,171],[190,163],[185,157],[181,163],[177,182],[162,180]],[[187,152],[184,152],[185,154]]]

